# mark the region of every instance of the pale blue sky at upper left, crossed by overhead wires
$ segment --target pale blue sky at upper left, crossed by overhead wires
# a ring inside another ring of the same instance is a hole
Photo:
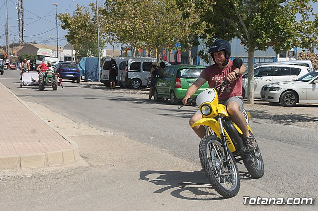
[[[18,42],[18,14],[15,9],[16,0],[8,1],[9,42]],[[6,22],[6,0],[0,0],[0,46],[5,45],[5,22]],[[70,14],[76,9],[76,4],[88,6],[96,0],[24,0],[24,27],[25,42],[37,42],[46,45],[56,45],[56,21],[55,5],[58,3],[58,13],[68,12]],[[98,0],[102,4],[103,0]],[[314,12],[318,13],[318,3],[313,4]],[[59,28],[59,45],[67,44],[64,35],[66,31]],[[45,33],[44,33],[45,32]],[[54,37],[53,42],[52,38]],[[109,46],[110,47],[110,46]],[[118,48],[117,48],[118,49]]]

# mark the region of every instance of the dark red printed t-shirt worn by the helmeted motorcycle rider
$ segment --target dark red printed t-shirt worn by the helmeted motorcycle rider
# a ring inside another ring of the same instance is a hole
[[[229,65],[224,69],[220,69],[217,64],[212,64],[201,72],[200,77],[208,81],[209,88],[213,88],[222,84],[223,81],[227,79],[227,75],[235,69],[236,67],[233,66],[232,61],[230,61]],[[242,96],[242,75],[239,75],[238,80],[225,85],[222,90],[219,101],[224,101],[231,97]]]

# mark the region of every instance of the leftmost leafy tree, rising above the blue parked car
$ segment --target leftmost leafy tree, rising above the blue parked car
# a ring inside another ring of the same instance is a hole
[[[94,3],[90,3],[90,8],[77,4],[76,11],[72,17],[69,13],[58,15],[62,22],[62,29],[68,30],[68,34],[65,37],[74,46],[77,56],[98,55],[97,16],[95,11]],[[100,39],[100,46],[104,46],[103,39]]]

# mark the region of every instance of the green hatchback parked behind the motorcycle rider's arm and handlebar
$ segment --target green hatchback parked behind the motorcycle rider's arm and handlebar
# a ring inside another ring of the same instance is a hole
[[[204,66],[178,64],[167,66],[154,88],[155,101],[170,99],[172,105],[180,105],[187,89],[198,79]],[[209,88],[208,82],[191,97],[196,98],[203,90]]]

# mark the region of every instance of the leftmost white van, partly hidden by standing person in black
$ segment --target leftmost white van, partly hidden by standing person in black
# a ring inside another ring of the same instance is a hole
[[[122,75],[122,71],[125,69],[122,69],[122,64],[125,60],[127,60],[126,57],[103,57],[102,60],[102,69],[101,69],[101,75],[100,75],[100,82],[105,84],[105,86],[109,87],[109,69],[111,67],[111,59],[115,59],[116,64],[118,66],[118,79],[116,81],[116,85],[119,84],[120,79],[121,79],[121,75]]]

